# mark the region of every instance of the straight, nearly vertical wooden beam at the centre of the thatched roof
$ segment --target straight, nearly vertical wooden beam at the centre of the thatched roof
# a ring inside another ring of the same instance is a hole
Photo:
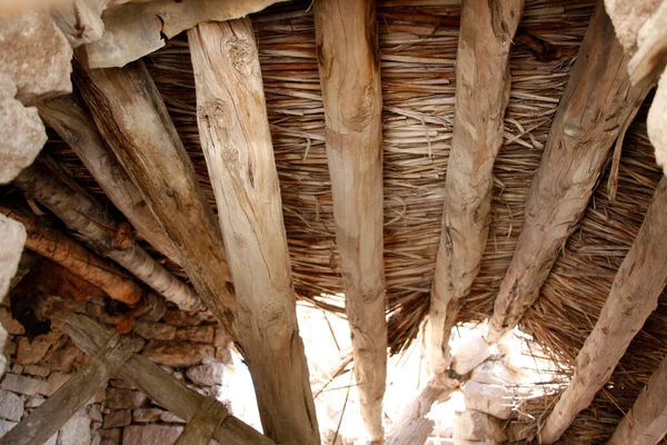
[[[336,241],[361,417],[384,439],[387,380],[382,89],[374,0],[313,4]],[[345,38],[344,38],[345,36]]]

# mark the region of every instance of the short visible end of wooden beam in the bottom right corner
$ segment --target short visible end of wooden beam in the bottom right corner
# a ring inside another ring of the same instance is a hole
[[[607,445],[655,445],[667,433],[667,356]]]

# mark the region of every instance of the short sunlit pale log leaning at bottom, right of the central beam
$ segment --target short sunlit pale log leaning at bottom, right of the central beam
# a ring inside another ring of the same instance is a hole
[[[446,402],[459,382],[439,374],[428,382],[419,395],[406,406],[387,439],[387,445],[425,444],[436,423],[426,416],[436,402]]]

